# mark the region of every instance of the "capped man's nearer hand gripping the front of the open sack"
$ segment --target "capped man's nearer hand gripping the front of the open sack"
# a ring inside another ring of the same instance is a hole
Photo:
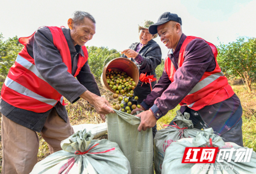
[[[148,128],[152,128],[156,125],[156,117],[154,116],[153,112],[147,110],[145,112],[141,112],[137,115],[137,117],[141,118],[140,125],[138,127],[139,132],[141,130],[146,131]]]

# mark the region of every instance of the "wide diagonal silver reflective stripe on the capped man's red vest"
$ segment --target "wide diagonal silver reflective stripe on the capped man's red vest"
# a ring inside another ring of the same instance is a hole
[[[220,76],[224,76],[223,72],[218,72],[215,74],[211,74],[210,76],[208,76],[207,78],[201,80],[200,82],[198,82],[194,88],[188,93],[189,94],[193,94],[197,91],[199,91],[200,89],[204,88],[205,86],[209,85],[211,82],[213,82],[214,80],[218,79]]]

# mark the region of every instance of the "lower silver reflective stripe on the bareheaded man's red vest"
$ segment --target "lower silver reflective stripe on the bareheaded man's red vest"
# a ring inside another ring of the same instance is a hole
[[[5,86],[9,87],[12,90],[15,90],[16,92],[18,92],[22,95],[34,98],[36,100],[39,100],[41,102],[44,102],[44,103],[52,105],[52,106],[55,106],[55,104],[58,102],[57,100],[45,98],[41,95],[38,95],[38,94],[32,92],[31,90],[18,84],[16,81],[11,80],[9,77],[6,77],[6,79],[5,79]]]

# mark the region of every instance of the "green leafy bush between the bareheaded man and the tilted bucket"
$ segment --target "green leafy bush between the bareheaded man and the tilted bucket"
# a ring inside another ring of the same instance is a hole
[[[111,54],[116,53],[117,50],[105,47],[87,47],[88,50],[88,64],[90,66],[91,72],[94,74],[96,79],[99,79],[103,70],[103,64],[106,58],[108,58]],[[113,58],[120,57],[120,53],[116,53],[111,55],[105,62],[105,65],[112,60]]]

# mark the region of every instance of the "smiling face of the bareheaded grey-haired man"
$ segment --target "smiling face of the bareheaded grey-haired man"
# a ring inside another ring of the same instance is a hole
[[[91,19],[84,17],[83,22],[75,24],[73,19],[68,20],[70,35],[74,46],[84,46],[88,40],[91,40],[95,34],[95,23]]]

